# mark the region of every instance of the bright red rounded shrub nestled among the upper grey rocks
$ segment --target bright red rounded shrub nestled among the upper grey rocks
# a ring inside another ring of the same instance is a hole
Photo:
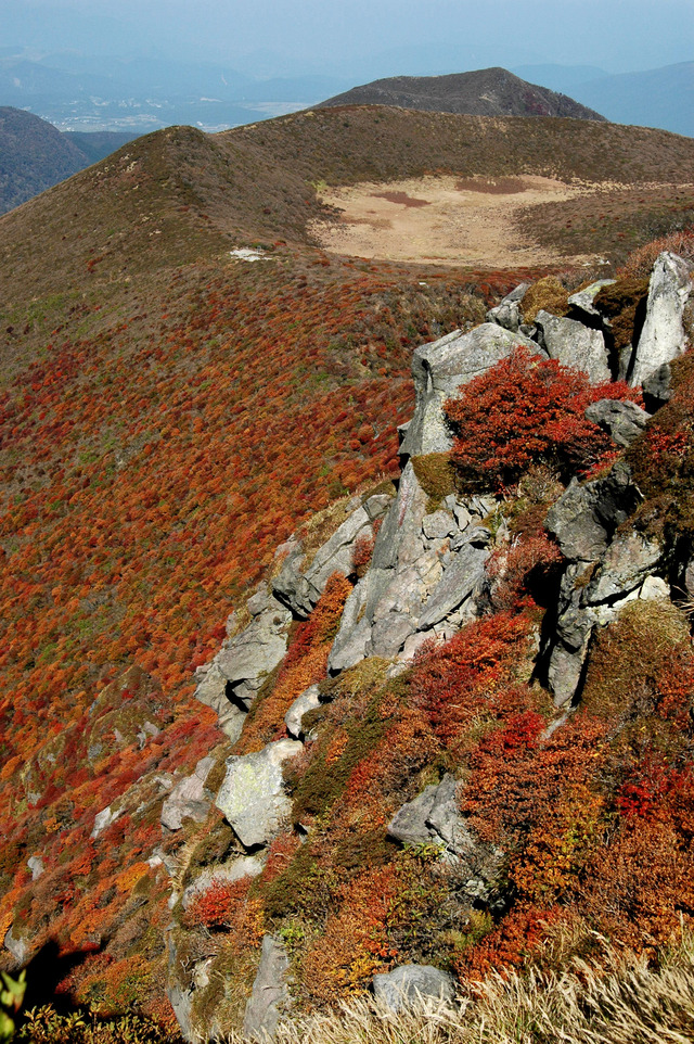
[[[445,404],[452,463],[467,488],[509,486],[540,461],[568,479],[612,448],[586,407],[634,397],[626,384],[591,384],[581,371],[518,347]]]

